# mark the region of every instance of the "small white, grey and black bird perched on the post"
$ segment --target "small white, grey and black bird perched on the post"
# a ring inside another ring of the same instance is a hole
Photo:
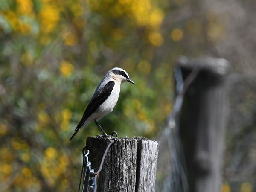
[[[84,128],[93,121],[100,128],[103,136],[108,136],[99,125],[99,119],[113,111],[123,82],[135,84],[131,81],[128,73],[119,67],[115,67],[108,71],[96,88],[80,122],[75,128],[74,134],[70,137],[70,141],[81,130],[81,128]]]

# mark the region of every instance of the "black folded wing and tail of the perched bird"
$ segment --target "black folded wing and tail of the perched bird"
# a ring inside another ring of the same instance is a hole
[[[76,126],[75,133],[72,135],[70,140],[78,133],[79,129],[84,125],[84,122],[86,119],[93,114],[94,111],[96,111],[97,108],[99,108],[100,105],[102,105],[103,102],[110,96],[113,87],[115,85],[114,81],[109,81],[105,87],[103,87],[102,91],[99,92],[99,94],[90,101],[87,108],[84,111],[84,114],[82,116],[82,119],[80,120],[79,124]]]

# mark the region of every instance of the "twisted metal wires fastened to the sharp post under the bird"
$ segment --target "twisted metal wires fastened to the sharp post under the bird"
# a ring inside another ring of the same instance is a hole
[[[97,177],[99,176],[99,172],[101,172],[101,170],[102,170],[102,166],[103,166],[105,157],[108,153],[109,148],[111,147],[111,145],[113,143],[114,143],[114,141],[112,140],[108,144],[108,147],[106,148],[106,150],[102,156],[99,170],[97,172],[94,172],[94,170],[91,168],[91,162],[89,161],[89,157],[88,157],[88,155],[90,154],[90,151],[89,150],[86,151],[87,147],[83,148],[83,165],[82,165],[82,170],[81,170],[78,192],[80,192],[82,179],[83,179],[83,184],[82,184],[81,192],[96,192]],[[86,151],[86,153],[85,153],[85,151]]]

